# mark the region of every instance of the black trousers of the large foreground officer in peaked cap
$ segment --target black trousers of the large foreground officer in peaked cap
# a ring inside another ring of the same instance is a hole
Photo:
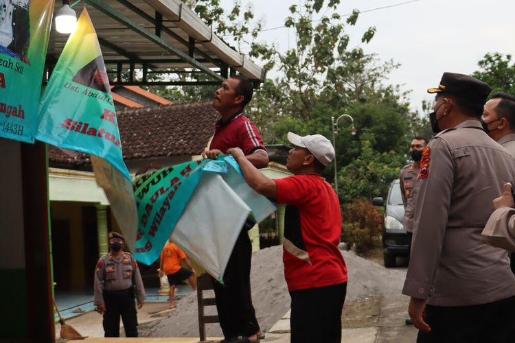
[[[417,343],[515,342],[515,296],[472,306],[426,306],[431,332],[419,331]]]

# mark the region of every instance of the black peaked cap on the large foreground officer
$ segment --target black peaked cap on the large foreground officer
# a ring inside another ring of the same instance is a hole
[[[429,88],[427,93],[453,94],[472,102],[485,104],[490,91],[492,91],[492,88],[487,83],[477,80],[477,78],[472,78],[472,76],[444,73],[438,87]]]

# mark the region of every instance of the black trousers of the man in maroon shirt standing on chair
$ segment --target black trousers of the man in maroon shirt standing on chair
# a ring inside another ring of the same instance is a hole
[[[243,228],[234,245],[223,276],[224,285],[214,281],[218,320],[225,338],[251,336],[260,330],[251,296],[252,243]],[[213,279],[214,280],[214,279]]]

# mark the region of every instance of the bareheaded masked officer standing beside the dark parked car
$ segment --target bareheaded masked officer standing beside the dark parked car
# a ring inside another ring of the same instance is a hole
[[[413,215],[415,213],[415,199],[418,191],[418,172],[420,171],[420,160],[422,150],[428,141],[424,137],[413,137],[409,145],[409,156],[413,163],[404,165],[400,169],[400,192],[402,204],[404,204],[404,220],[402,226],[408,235],[408,246],[411,252],[411,238],[413,236]]]

